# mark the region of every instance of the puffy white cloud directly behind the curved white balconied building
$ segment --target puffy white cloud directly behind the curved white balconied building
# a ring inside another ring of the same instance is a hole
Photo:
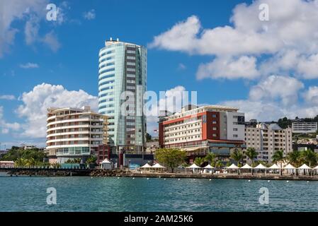
[[[49,107],[83,107],[98,109],[98,98],[83,90],[69,91],[62,85],[42,83],[23,93],[23,105],[16,109],[19,117],[25,118],[22,136],[44,138],[46,136],[46,114]]]

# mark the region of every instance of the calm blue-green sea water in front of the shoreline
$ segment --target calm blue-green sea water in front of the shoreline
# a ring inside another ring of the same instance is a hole
[[[57,205],[46,203],[47,188]],[[259,189],[269,204],[260,205]],[[0,211],[317,211],[318,182],[0,177]]]

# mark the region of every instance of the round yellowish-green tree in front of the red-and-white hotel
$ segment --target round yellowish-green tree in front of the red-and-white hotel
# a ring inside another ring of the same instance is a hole
[[[156,158],[174,172],[174,169],[186,160],[186,152],[177,148],[159,148],[156,150]]]

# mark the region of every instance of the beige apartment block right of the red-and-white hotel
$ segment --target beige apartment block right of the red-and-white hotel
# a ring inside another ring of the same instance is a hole
[[[271,162],[276,150],[283,150],[285,155],[293,151],[292,129],[282,129],[278,124],[246,126],[245,141],[246,148],[255,148],[259,153],[257,160],[264,162]]]

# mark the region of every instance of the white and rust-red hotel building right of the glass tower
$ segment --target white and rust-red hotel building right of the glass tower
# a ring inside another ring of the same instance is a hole
[[[219,105],[188,107],[160,118],[161,148],[186,150],[190,160],[209,152],[228,158],[232,150],[244,150],[243,112]]]

